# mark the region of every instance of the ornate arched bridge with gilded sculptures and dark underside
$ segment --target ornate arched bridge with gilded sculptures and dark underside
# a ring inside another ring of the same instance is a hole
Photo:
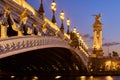
[[[83,75],[88,47],[25,0],[0,0],[0,75]],[[41,7],[40,7],[41,9]]]

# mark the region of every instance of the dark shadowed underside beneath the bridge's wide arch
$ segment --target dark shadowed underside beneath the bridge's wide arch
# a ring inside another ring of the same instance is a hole
[[[80,58],[66,48],[44,48],[0,59],[0,69],[13,75],[83,75]]]

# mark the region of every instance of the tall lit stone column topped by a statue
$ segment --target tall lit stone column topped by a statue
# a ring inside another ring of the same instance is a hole
[[[93,51],[92,57],[102,57],[102,23],[100,22],[101,14],[95,16],[95,22],[93,24]]]

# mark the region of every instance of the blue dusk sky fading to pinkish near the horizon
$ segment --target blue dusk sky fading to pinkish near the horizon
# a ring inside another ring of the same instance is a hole
[[[27,0],[36,10],[40,5],[40,0]],[[52,0],[43,0],[45,16],[51,20],[52,11],[50,9]],[[95,16],[102,14],[103,24],[103,50],[105,55],[116,51],[120,54],[120,0],[55,0],[57,11],[55,13],[57,25],[60,26],[60,12],[65,13],[65,20],[70,18],[71,30],[76,27],[84,40],[92,49],[93,27]],[[64,21],[64,26],[66,23]],[[65,29],[66,30],[66,29]]]

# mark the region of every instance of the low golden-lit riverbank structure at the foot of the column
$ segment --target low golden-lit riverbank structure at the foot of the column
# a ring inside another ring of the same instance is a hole
[[[92,57],[89,71],[93,74],[120,74],[120,57],[116,53],[113,53],[113,56],[103,58]]]

